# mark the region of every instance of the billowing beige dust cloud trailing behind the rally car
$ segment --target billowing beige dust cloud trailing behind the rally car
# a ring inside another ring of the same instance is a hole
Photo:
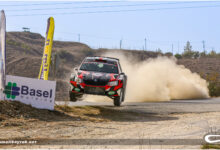
[[[123,72],[128,76],[125,101],[169,101],[209,97],[206,80],[183,65],[178,65],[175,58],[159,56],[140,62],[136,61],[136,58],[125,57],[119,53],[106,53],[104,56],[119,58]],[[106,98],[87,96],[85,100],[99,102],[106,101]]]

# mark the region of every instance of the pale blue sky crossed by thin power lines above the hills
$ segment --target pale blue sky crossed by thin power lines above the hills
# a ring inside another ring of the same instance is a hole
[[[201,52],[204,41],[207,52],[220,52],[220,1],[0,1],[0,9],[7,31],[28,27],[45,36],[52,16],[55,40],[91,48],[120,48],[121,41],[123,49],[182,53],[190,41]]]

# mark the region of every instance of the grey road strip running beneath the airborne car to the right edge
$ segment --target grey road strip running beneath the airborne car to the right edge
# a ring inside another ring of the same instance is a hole
[[[64,102],[56,102],[57,104],[64,104]],[[171,100],[166,102],[125,102],[121,107],[113,107],[113,102],[68,102],[69,106],[102,106],[110,109],[138,111],[145,113],[204,113],[204,112],[219,112],[220,111],[220,97],[210,99],[197,100]]]

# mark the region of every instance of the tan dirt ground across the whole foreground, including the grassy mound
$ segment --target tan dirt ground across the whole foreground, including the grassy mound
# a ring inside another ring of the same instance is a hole
[[[209,131],[220,129],[220,110],[211,112],[207,110],[209,106],[189,100],[188,104],[195,111],[178,112],[171,106],[174,103],[181,104],[178,101],[150,103],[151,109],[148,109],[147,103],[125,103],[118,108],[87,103],[87,106],[56,106],[55,111],[48,111],[1,101],[0,106],[5,109],[1,109],[0,139],[32,139],[42,144],[32,144],[32,148],[200,148],[198,144],[179,145],[168,141],[154,145],[150,141],[202,140]],[[211,99],[209,103],[218,107],[220,98]],[[200,111],[196,111],[199,108]],[[154,109],[162,111],[152,111]],[[76,144],[74,139],[80,140]],[[29,146],[0,145],[0,148]]]

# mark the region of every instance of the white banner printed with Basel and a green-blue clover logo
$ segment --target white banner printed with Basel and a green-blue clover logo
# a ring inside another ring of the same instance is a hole
[[[54,109],[56,81],[6,75],[5,100],[16,100],[40,109]]]

